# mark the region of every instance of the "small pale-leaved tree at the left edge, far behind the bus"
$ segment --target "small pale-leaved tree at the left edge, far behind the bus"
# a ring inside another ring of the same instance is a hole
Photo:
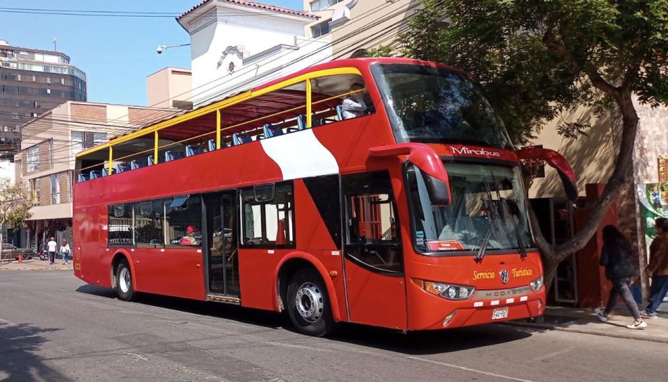
[[[0,247],[3,243],[3,227],[6,223],[15,227],[25,226],[31,217],[30,192],[21,183],[9,178],[0,178]]]

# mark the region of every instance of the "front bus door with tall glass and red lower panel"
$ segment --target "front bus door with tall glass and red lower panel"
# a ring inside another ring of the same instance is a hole
[[[351,322],[405,329],[404,256],[387,171],[342,176]]]

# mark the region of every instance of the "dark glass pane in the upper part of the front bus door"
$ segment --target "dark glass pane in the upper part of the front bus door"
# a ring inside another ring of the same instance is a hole
[[[342,188],[347,215],[346,256],[377,271],[401,272],[401,240],[390,174],[346,175]]]

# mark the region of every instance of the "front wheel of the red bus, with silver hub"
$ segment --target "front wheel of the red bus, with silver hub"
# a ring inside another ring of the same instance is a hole
[[[327,288],[315,269],[300,269],[287,286],[287,311],[297,331],[323,337],[336,329]]]

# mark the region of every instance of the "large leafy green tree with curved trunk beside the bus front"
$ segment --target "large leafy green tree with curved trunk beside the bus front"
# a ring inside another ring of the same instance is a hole
[[[516,144],[578,103],[621,115],[614,170],[588,221],[555,247],[536,232],[550,285],[633,174],[634,97],[651,106],[668,101],[668,0],[420,1],[400,38],[403,53],[474,73]],[[586,127],[565,124],[559,132],[576,137]]]

